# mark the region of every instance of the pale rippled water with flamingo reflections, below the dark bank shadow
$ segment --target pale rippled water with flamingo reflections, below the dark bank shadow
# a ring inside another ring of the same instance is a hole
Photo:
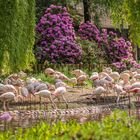
[[[10,121],[1,120],[0,130],[5,131],[8,129],[27,128],[38,124],[41,121],[45,121],[52,125],[58,121],[68,122],[70,120],[76,120],[79,123],[84,123],[86,121],[101,120],[106,115],[109,115],[114,109],[123,109],[128,111],[128,104],[110,104],[93,106],[92,104],[69,104],[70,109],[64,109],[63,104],[61,104],[61,109],[52,110],[14,110],[9,111],[12,117]],[[131,113],[139,113],[140,111],[131,109]],[[138,114],[137,113],[137,114]],[[2,116],[4,112],[0,112]]]

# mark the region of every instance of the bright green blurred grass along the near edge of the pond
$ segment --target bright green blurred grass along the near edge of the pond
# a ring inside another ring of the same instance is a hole
[[[41,122],[16,132],[0,132],[0,140],[139,140],[140,122],[125,112],[115,111],[102,121],[79,124],[71,121],[50,126]]]

